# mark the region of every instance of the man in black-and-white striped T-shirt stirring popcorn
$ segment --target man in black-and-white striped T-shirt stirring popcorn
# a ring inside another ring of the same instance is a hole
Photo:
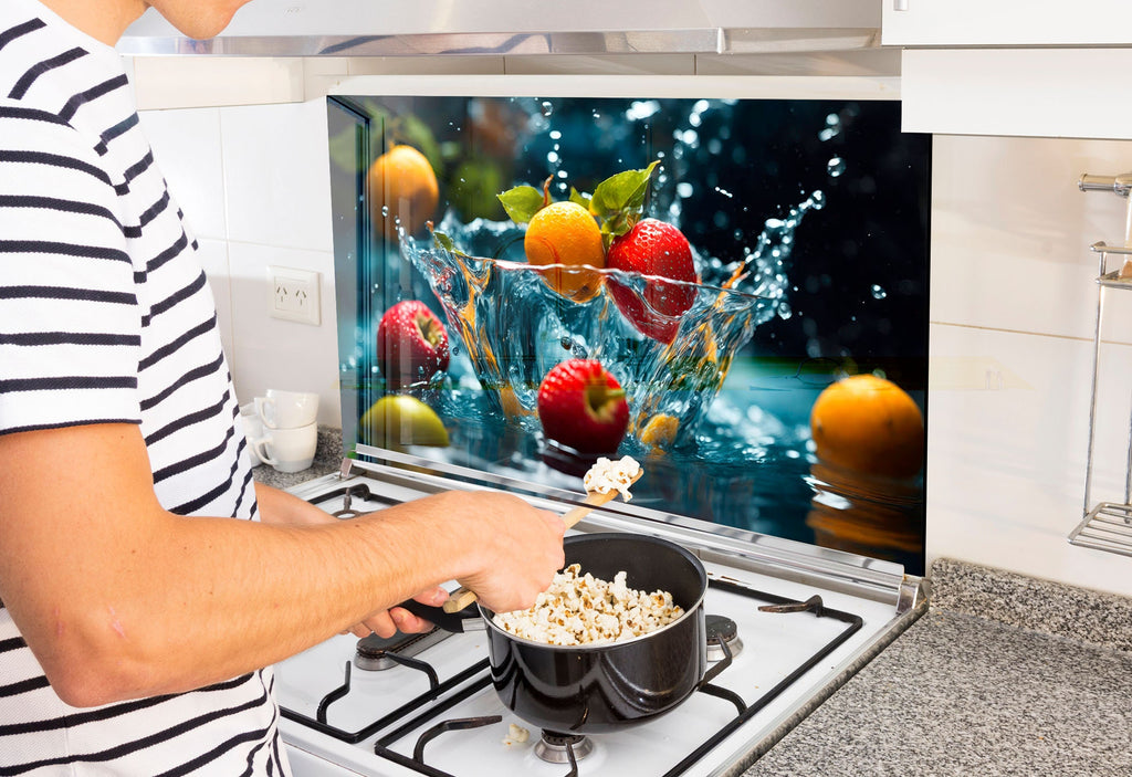
[[[211,37],[243,0],[153,0]],[[563,524],[500,493],[334,521],[251,478],[196,242],[112,46],[142,0],[0,2],[0,775],[285,774],[273,662],[529,606]]]

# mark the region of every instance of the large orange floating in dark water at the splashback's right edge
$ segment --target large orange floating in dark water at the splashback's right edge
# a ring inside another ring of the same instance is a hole
[[[872,374],[827,386],[809,413],[817,457],[871,475],[908,477],[924,460],[924,415],[899,386]]]

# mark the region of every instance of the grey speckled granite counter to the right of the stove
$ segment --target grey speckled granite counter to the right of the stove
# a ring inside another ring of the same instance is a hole
[[[929,578],[929,611],[745,776],[1132,775],[1132,601],[949,560]]]

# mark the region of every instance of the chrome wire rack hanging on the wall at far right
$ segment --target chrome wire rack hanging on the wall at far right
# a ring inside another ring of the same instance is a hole
[[[1082,175],[1081,191],[1109,191],[1127,200],[1124,245],[1094,243],[1090,248],[1100,257],[1097,273],[1097,322],[1092,337],[1092,388],[1089,400],[1089,448],[1086,457],[1083,518],[1070,535],[1073,545],[1109,551],[1132,556],[1132,420],[1129,425],[1125,464],[1124,502],[1092,502],[1092,458],[1097,432],[1097,383],[1100,366],[1101,318],[1105,292],[1109,288],[1132,288],[1132,173],[1121,175]],[[1108,257],[1121,258],[1121,267],[1108,269]]]

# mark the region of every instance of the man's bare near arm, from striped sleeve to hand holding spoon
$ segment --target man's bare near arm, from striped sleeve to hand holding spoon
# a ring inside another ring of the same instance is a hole
[[[0,599],[77,706],[238,676],[448,579],[529,606],[561,535],[497,492],[316,526],[185,518],[157,503],[136,426],[0,437]]]

